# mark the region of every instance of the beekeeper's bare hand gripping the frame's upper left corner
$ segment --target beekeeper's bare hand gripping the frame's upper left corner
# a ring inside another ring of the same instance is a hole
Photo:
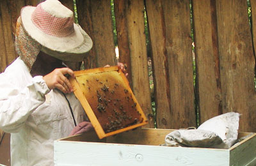
[[[45,75],[45,80],[49,89],[59,89],[63,93],[71,93],[73,88],[65,75],[68,74],[70,77],[75,77],[74,72],[70,68],[56,68],[51,73]]]

